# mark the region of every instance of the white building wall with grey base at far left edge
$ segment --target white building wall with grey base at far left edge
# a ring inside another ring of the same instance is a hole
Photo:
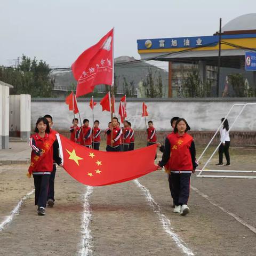
[[[9,148],[9,91],[0,84],[0,149]]]

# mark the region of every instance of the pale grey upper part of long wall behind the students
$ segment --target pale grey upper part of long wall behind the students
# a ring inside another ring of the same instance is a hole
[[[88,118],[92,122],[92,110],[89,107],[90,99],[79,99],[78,108],[81,118]],[[105,129],[110,121],[110,114],[101,111],[100,99],[94,108],[94,120],[100,120],[100,127]],[[127,119],[138,130],[145,129],[145,119],[141,117],[143,99],[127,99]],[[224,117],[234,103],[256,102],[256,99],[209,98],[209,99],[145,99],[148,106],[149,117],[158,131],[170,130],[170,119],[180,116],[187,119],[193,131],[217,130],[221,117]],[[119,101],[116,99],[115,109],[118,113]],[[241,107],[235,107],[228,118],[232,123]],[[246,107],[241,117],[234,125],[233,131],[256,131],[256,107]],[[68,110],[65,99],[32,99],[31,101],[31,127],[34,130],[39,116],[50,114],[53,117],[54,129],[69,129],[73,119],[73,112]],[[78,117],[78,115],[76,115]],[[117,117],[119,115],[117,114]]]

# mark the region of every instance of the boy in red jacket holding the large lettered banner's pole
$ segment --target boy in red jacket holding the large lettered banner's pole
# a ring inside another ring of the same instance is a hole
[[[113,138],[111,140],[111,132],[113,131]],[[118,127],[118,118],[112,118],[112,126],[106,131],[107,147],[106,151],[120,151],[122,130]]]

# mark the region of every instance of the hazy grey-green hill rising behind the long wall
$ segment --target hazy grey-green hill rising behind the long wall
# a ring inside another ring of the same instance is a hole
[[[155,77],[158,77],[159,75],[162,77],[163,96],[165,96],[168,87],[168,72],[146,62],[131,61],[136,61],[136,59],[129,56],[121,56],[115,59],[117,94],[124,94],[126,81],[126,90],[127,85],[130,88],[132,84],[132,86],[134,86],[134,97],[137,97],[137,92],[139,93],[138,88],[141,84],[141,81],[146,79],[146,76],[149,74],[149,72],[151,72]],[[125,62],[131,63],[126,64]],[[54,72],[52,73],[52,76],[55,78],[55,90],[74,90],[72,84],[73,86],[76,85],[76,81],[71,71]],[[96,88],[98,92],[106,91],[105,85],[98,85]]]

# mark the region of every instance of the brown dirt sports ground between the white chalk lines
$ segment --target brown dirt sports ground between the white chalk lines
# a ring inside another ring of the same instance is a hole
[[[202,149],[197,147],[197,157]],[[211,150],[213,148],[202,158],[201,165]],[[256,170],[255,154],[255,148],[231,148],[232,166],[226,169]],[[215,156],[207,168],[217,169],[214,166],[217,162],[218,157]],[[33,178],[26,177],[27,167],[24,164],[0,166],[0,223],[34,187]],[[255,255],[256,234],[211,204],[198,191],[255,228],[256,179],[211,179],[193,175],[190,213],[186,217],[172,212],[164,171],[150,173],[138,180],[170,220],[172,231],[194,255]],[[58,167],[54,207],[47,208],[46,215],[39,217],[34,195],[31,195],[22,204],[20,213],[0,231],[0,255],[81,255],[83,197],[86,190],[86,186]],[[94,187],[89,203],[92,252],[88,255],[187,255],[165,232],[157,212],[136,182]]]

